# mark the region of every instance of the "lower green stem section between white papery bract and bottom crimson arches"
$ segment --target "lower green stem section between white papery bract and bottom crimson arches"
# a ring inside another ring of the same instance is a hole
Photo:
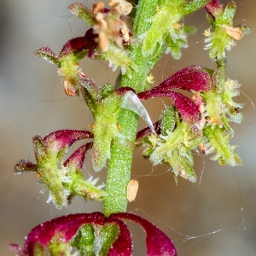
[[[137,133],[137,114],[122,111],[119,116],[121,137],[113,140],[111,158],[108,162],[106,192],[103,213],[108,216],[113,212],[126,212],[126,187],[131,178],[131,160],[133,144]]]

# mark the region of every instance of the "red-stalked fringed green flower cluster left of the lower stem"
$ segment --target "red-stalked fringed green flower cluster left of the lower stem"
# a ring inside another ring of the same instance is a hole
[[[49,189],[47,202],[53,201],[57,208],[67,206],[75,195],[102,201],[107,195],[102,190],[104,184],[96,186],[98,178],[93,179],[92,176],[84,180],[81,172],[84,154],[92,147],[92,143],[79,147],[61,163],[67,148],[74,142],[92,137],[90,131],[76,130],[54,131],[44,138],[35,136],[32,141],[37,164],[29,160],[20,160],[15,166],[15,173],[36,172],[35,176],[40,178],[39,183],[44,185],[43,191]]]

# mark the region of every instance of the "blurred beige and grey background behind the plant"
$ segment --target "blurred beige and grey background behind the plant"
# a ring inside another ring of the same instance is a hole
[[[246,22],[256,30],[253,0],[237,2],[236,23]],[[0,9],[0,255],[9,252],[9,242],[23,244],[33,226],[50,218],[70,212],[100,211],[97,202],[73,201],[71,207],[56,210],[45,201],[48,192],[40,194],[41,185],[32,174],[14,176],[16,160],[34,160],[32,137],[59,129],[86,129],[92,118],[79,97],[67,97],[61,86],[56,67],[37,58],[32,52],[49,46],[55,53],[68,39],[81,36],[87,29],[83,21],[67,11],[71,0],[9,0],[1,1]],[[227,1],[225,1],[227,3]],[[91,5],[91,2],[88,2]],[[189,49],[183,50],[181,61],[166,55],[154,69],[155,81],[198,64],[214,67],[203,50],[202,32],[208,27],[206,12],[201,10],[186,21],[198,28],[189,38]],[[129,211],[143,215],[157,224],[172,238],[178,255],[240,256],[256,254],[256,34],[251,33],[228,53],[228,77],[242,84],[240,102],[245,103],[244,123],[233,125],[239,144],[237,152],[244,164],[221,167],[208,156],[195,155],[197,183],[178,178],[166,166],[153,167],[136,150],[132,177],[140,188]],[[114,83],[117,73],[108,63],[83,61],[84,73],[99,84]],[[160,109],[168,99],[147,102],[150,116],[158,119]],[[145,124],[142,122],[141,127]],[[90,156],[90,154],[88,154]],[[85,163],[84,175],[93,173],[90,160]],[[106,170],[101,175],[102,181]],[[135,244],[134,255],[144,255],[144,234],[131,224]]]

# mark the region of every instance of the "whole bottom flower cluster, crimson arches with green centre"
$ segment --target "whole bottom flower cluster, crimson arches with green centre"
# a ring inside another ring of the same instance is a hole
[[[172,241],[165,233],[145,218],[127,212],[113,213],[109,217],[105,217],[102,212],[92,212],[54,218],[33,228],[26,238],[24,248],[16,244],[9,247],[17,256],[44,255],[46,248],[50,255],[72,255],[72,246],[79,248],[84,256],[91,253],[131,256],[131,232],[123,219],[143,227],[147,235],[148,256],[177,255]],[[109,230],[112,231],[110,236]]]

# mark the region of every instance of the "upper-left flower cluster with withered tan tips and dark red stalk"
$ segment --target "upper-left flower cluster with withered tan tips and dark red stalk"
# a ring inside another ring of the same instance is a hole
[[[35,55],[59,67],[58,73],[68,96],[79,94],[79,75],[82,72],[79,61],[86,55],[90,59],[109,61],[113,71],[121,67],[123,74],[130,73],[130,67],[137,69],[125,50],[132,44],[132,34],[121,18],[121,15],[131,12],[131,3],[113,0],[109,5],[110,9],[104,9],[104,3],[98,2],[90,10],[83,3],[71,4],[68,9],[73,15],[92,28],[85,32],[84,37],[67,41],[58,56],[48,46],[35,52]]]

